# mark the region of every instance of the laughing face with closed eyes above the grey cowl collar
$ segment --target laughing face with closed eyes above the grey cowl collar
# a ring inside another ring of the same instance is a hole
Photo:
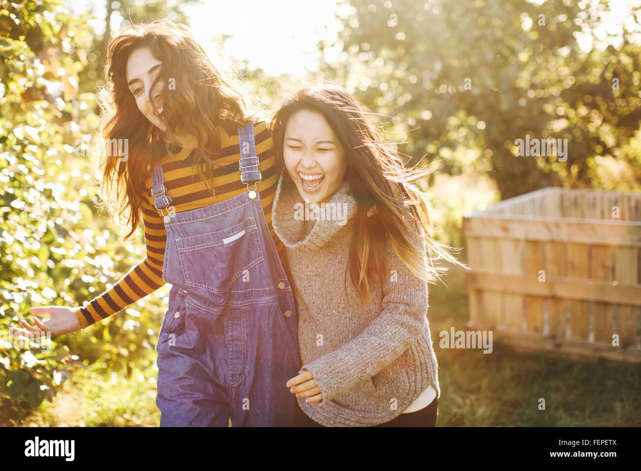
[[[328,201],[343,185],[347,156],[322,114],[300,110],[287,120],[283,158],[303,199]]]

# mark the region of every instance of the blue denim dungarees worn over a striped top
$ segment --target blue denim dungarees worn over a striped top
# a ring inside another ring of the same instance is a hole
[[[156,345],[161,427],[226,427],[230,417],[234,427],[294,424],[285,383],[301,367],[297,315],[256,188],[253,124],[238,129],[238,144],[247,191],[205,208],[173,211],[154,163],[172,285]]]

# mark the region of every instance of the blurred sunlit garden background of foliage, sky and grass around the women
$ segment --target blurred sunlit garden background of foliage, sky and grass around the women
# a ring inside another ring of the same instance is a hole
[[[434,163],[435,236],[463,261],[469,211],[545,186],[640,190],[641,1],[0,0],[0,425],[158,425],[168,285],[49,352],[6,340],[31,306],[78,306],[144,258],[142,227],[122,242],[98,205],[94,94],[110,38],[163,17],[234,58],[266,112],[301,80],[345,85],[408,165]],[[567,139],[567,160],[515,156],[526,135]],[[463,279],[430,289],[438,426],[641,425],[639,365],[438,348],[469,318]]]

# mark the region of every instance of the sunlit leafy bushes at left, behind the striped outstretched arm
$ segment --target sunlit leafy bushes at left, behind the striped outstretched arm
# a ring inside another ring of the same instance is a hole
[[[92,41],[87,21],[58,1],[0,8],[0,407],[13,409],[7,419],[51,401],[81,359],[125,374],[154,361],[165,288],[138,303],[145,310],[129,306],[127,317],[55,338],[51,352],[18,348],[8,331],[31,317],[31,306],[92,299],[144,257],[142,237],[123,244],[119,228],[94,214],[97,116],[94,94],[78,89]]]

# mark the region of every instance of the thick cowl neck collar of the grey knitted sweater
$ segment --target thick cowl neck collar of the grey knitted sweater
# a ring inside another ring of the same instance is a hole
[[[328,202],[315,205],[304,201],[290,176],[281,174],[272,204],[272,227],[285,247],[316,251],[349,226],[356,209],[347,181]]]

